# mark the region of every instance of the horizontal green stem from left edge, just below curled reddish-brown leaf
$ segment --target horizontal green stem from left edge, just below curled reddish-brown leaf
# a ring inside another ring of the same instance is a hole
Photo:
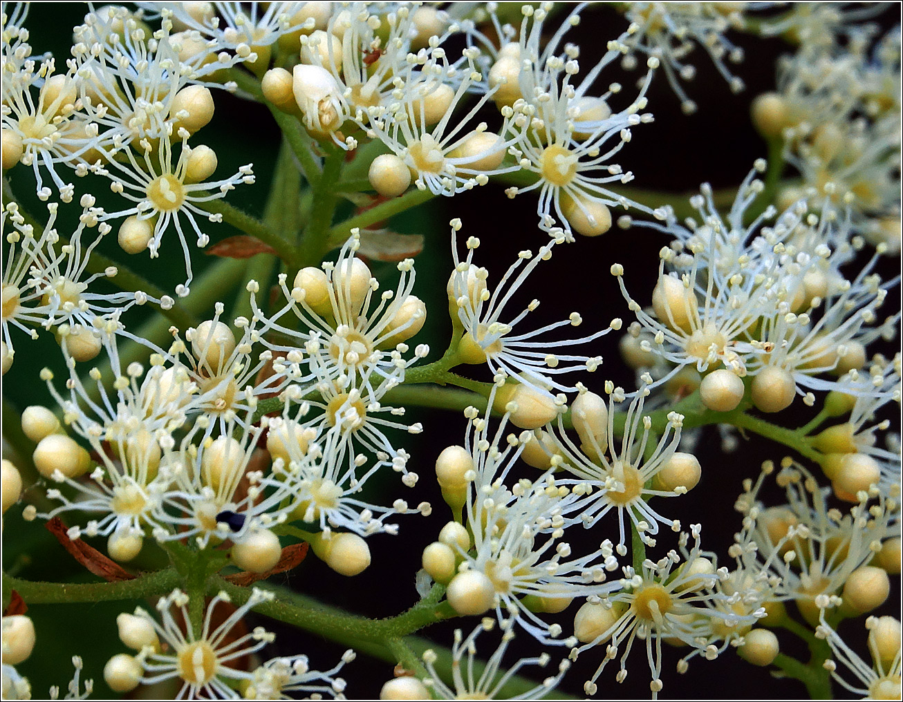
[[[177,587],[180,580],[175,568],[165,568],[135,577],[134,580],[113,583],[46,583],[4,574],[3,599],[6,605],[12,590],[22,596],[26,605],[70,605],[142,599],[163,595]]]

